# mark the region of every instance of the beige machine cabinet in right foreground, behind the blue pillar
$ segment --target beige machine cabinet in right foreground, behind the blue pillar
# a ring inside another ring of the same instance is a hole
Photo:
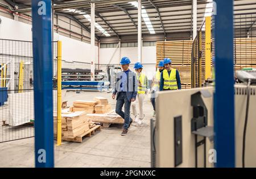
[[[254,72],[247,73],[254,76]],[[242,77],[246,81],[245,75]],[[256,167],[256,86],[234,88],[236,167]],[[213,93],[213,87],[159,93],[156,121],[151,122],[153,167],[214,167],[218,151],[213,143]],[[246,105],[248,96],[250,105]]]

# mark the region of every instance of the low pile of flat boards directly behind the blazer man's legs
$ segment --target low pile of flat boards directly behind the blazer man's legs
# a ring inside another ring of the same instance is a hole
[[[106,114],[87,114],[87,118],[92,120],[93,122],[102,123],[103,127],[109,127],[110,124],[123,124],[125,120],[115,113],[115,111],[111,111]]]

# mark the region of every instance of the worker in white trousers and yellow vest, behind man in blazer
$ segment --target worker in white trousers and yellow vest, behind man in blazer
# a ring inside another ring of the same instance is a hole
[[[145,98],[145,94],[148,88],[148,80],[146,74],[142,73],[143,65],[139,62],[135,63],[134,69],[137,74],[138,80],[138,103],[139,103],[139,115],[136,109],[136,102],[131,103],[131,107],[133,109],[133,115],[135,116],[135,123],[139,125],[142,124],[142,120],[144,118],[143,114],[143,101]]]

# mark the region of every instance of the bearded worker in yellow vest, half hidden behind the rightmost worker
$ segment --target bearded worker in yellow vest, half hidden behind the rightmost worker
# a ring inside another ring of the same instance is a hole
[[[163,61],[160,61],[158,64],[158,69],[156,70],[155,76],[153,77],[152,80],[152,89],[151,89],[151,103],[154,109],[154,114],[153,116],[155,116],[155,95],[156,95],[156,91],[159,91],[159,84],[160,84],[160,77],[161,77],[161,73],[164,70],[164,64]]]

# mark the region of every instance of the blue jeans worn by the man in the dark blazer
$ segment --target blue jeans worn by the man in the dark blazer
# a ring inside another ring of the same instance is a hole
[[[125,104],[125,113],[122,111],[123,104]],[[115,105],[115,113],[119,114],[123,119],[125,119],[125,123],[123,124],[124,129],[128,129],[130,121],[130,107],[131,102],[127,99],[126,92],[119,92],[117,96],[117,104]]]

